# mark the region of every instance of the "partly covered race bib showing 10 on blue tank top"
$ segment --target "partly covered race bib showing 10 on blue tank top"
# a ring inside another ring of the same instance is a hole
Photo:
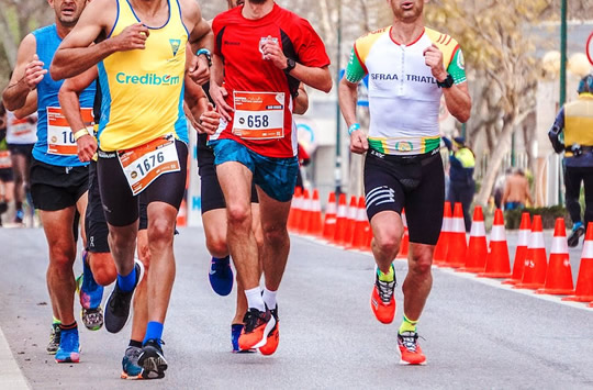
[[[92,109],[80,109],[82,121],[92,130],[94,124]],[[76,156],[78,154],[74,133],[59,107],[47,108],[47,153],[59,156]]]

